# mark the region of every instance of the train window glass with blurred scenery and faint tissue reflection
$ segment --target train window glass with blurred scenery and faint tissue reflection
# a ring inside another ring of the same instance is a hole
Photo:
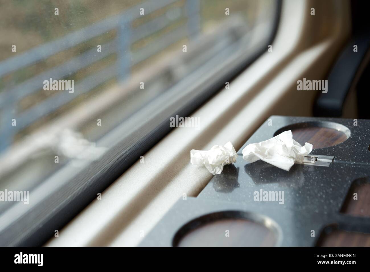
[[[265,46],[275,4],[0,0],[0,191],[31,191],[97,159],[110,146],[95,142],[138,113],[181,105],[188,86]]]

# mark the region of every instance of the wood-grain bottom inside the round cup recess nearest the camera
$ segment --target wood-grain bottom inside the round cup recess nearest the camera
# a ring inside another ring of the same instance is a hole
[[[266,226],[247,219],[226,218],[189,231],[178,246],[274,246],[275,243],[275,234]]]

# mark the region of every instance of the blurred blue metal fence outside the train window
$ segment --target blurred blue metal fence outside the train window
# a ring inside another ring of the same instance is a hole
[[[109,17],[62,38],[34,47],[22,54],[0,62],[1,78],[43,61],[61,51],[73,48],[108,31],[117,30],[117,36],[114,40],[101,45],[101,52],[97,52],[97,47],[95,46],[85,53],[60,63],[58,66],[37,74],[16,86],[6,87],[0,93],[0,151],[11,145],[14,135],[17,132],[28,127],[44,115],[53,113],[78,95],[88,93],[111,78],[124,80],[129,76],[133,65],[157,54],[183,37],[196,36],[200,30],[199,1],[186,0],[185,5],[182,7],[167,7],[175,2],[178,2],[178,0],[155,0],[138,4],[121,14]],[[144,8],[144,16],[164,8],[168,9],[168,11],[177,9],[177,11],[181,12],[175,18],[169,18],[165,13],[133,28],[132,21],[142,16],[139,14],[140,8]],[[151,36],[169,24],[174,23],[174,21],[181,19],[187,20],[186,25],[180,24],[174,30],[157,37],[153,43],[148,44],[138,51],[131,50],[131,45],[136,41]],[[25,111],[17,111],[19,101],[26,98],[27,95],[42,90],[44,80],[48,80],[49,78],[53,78],[53,80],[66,78],[113,53],[117,54],[117,62],[79,80],[74,86],[75,92],[73,94],[58,92]],[[11,125],[12,119],[16,119],[16,126]]]

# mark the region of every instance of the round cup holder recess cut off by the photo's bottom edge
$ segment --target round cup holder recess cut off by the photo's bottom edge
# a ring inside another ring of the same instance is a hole
[[[196,218],[176,233],[174,246],[275,246],[279,228],[271,219],[240,211]]]

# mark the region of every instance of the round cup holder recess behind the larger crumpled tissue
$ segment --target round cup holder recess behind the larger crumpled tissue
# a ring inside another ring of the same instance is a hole
[[[314,121],[287,125],[276,131],[274,136],[287,130],[292,131],[294,140],[301,145],[309,142],[313,145],[313,149],[340,144],[346,141],[351,134],[349,128],[344,125],[335,122]]]

